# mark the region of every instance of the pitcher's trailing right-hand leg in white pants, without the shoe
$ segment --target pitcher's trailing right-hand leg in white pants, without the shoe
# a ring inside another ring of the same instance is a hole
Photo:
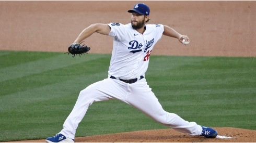
[[[131,94],[127,96],[126,101],[155,121],[185,134],[200,135],[202,133],[202,127],[195,122],[185,121],[177,114],[166,112],[145,79],[130,84],[130,90]]]

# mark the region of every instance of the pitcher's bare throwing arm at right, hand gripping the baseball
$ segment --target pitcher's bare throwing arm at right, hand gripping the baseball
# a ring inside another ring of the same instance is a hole
[[[189,41],[189,37],[187,35],[181,35],[176,30],[168,27],[167,25],[164,25],[164,32],[162,34],[169,37],[177,38],[181,43],[183,39],[185,41]]]

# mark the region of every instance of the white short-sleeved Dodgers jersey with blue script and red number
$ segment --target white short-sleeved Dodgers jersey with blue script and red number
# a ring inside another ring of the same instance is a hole
[[[146,24],[143,34],[132,28],[132,24],[110,23],[109,36],[114,37],[109,75],[120,79],[135,79],[145,75],[149,56],[164,32],[161,24]]]

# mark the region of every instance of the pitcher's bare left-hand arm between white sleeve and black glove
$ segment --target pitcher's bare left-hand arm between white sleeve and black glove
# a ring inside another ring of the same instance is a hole
[[[108,24],[100,24],[100,23],[91,24],[89,27],[84,29],[79,34],[79,36],[76,38],[74,43],[81,43],[83,40],[85,40],[87,37],[94,34],[95,32],[103,35],[109,35],[110,30],[111,28],[109,27]]]

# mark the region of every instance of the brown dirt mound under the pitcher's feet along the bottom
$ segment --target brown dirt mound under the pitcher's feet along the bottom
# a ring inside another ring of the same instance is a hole
[[[256,131],[233,127],[215,127],[218,138],[190,136],[174,129],[154,129],[147,131],[77,137],[75,142],[255,142]],[[14,142],[45,142],[40,140],[22,140]]]

